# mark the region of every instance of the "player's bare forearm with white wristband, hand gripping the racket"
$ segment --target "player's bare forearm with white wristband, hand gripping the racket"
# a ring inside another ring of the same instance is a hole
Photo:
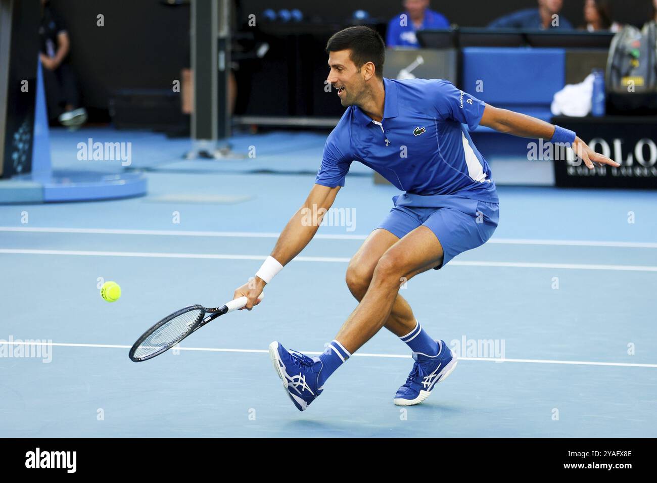
[[[317,184],[313,186],[304,204],[285,225],[271,255],[256,273],[256,277],[235,290],[233,298],[248,297],[244,308],[251,310],[258,305],[260,303],[258,296],[271,281],[271,277],[306,248],[317,233],[319,224],[332,206],[338,191],[340,186],[334,188]]]

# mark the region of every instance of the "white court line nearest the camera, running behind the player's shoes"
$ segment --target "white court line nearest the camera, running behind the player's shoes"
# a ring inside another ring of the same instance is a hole
[[[58,347],[90,347],[90,348],[108,348],[108,349],[129,349],[132,346],[120,346],[113,344],[64,344],[62,342],[26,342],[26,341],[7,341],[0,339],[0,345],[9,346],[58,346]],[[223,349],[214,347],[177,347],[179,350],[191,350],[200,352],[246,352],[248,354],[265,354],[269,351],[262,349]],[[303,352],[319,356],[321,352]],[[409,355],[402,354],[364,354],[357,352],[352,356],[359,357],[385,357],[394,359],[411,359]],[[606,365],[614,367],[651,367],[657,368],[657,364],[636,364],[626,362],[594,362],[594,361],[554,361],[549,359],[495,359],[494,357],[459,357],[459,361],[483,361],[483,362],[520,362],[530,364],[568,364],[568,365]]]

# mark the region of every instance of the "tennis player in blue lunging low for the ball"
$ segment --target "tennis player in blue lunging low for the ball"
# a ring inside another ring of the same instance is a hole
[[[254,280],[235,290],[235,298],[247,296],[248,310],[258,304],[263,287],[317,232],[321,217],[309,224],[306,214],[331,207],[351,162],[369,166],[405,193],[394,196],[394,208],[351,258],[346,282],[358,306],[321,356],[287,350],[280,342],[272,342],[269,353],[290,399],[304,411],[322,393],[328,377],[386,327],[409,346],[415,359],[394,403],[417,404],[454,370],[457,357],[422,328],[397,293],[399,287],[484,244],[499,220],[491,170],[466,126],[568,143],[589,169],[594,163],[619,164],[591,150],[573,131],[495,108],[448,81],[383,78],[385,45],[370,28],[350,27],[334,34],[327,53],[327,81],[347,109],[328,135],[306,201]]]

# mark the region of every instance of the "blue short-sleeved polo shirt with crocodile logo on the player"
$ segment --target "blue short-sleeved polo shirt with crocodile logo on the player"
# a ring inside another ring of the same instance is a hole
[[[328,135],[315,183],[344,186],[358,161],[411,195],[498,202],[490,168],[464,126],[477,127],[486,104],[446,80],[383,83],[382,121],[349,106]]]

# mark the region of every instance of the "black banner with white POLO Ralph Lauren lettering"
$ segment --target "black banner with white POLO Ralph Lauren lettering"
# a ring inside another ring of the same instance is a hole
[[[558,117],[553,123],[572,129],[591,149],[621,164],[589,170],[578,158],[555,150],[556,186],[657,189],[656,117]]]

